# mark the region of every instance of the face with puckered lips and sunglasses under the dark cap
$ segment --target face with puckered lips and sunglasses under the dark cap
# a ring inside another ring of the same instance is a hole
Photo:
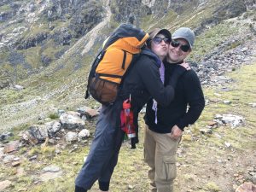
[[[163,34],[157,34],[151,42],[151,50],[160,57],[160,60],[163,60],[169,49],[169,44],[171,39],[166,38]]]

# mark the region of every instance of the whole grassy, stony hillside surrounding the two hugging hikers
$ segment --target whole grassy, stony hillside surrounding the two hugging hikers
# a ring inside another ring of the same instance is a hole
[[[11,133],[7,139],[0,137],[0,183],[11,181],[4,191],[73,191],[90,138],[82,143],[61,140],[46,147],[22,146],[10,154],[2,149],[31,125],[58,119],[60,111],[100,107],[92,99],[84,100],[90,63],[113,29],[129,21],[147,32],[154,27],[173,32],[189,26],[196,34],[188,61],[201,79],[207,107],[199,122],[185,132],[178,152],[177,192],[228,192],[245,182],[256,184],[255,9],[253,0],[1,1],[0,136]],[[218,125],[211,134],[205,133],[215,115],[224,113],[241,115],[245,124],[236,129]],[[143,119],[140,123],[143,141]],[[85,120],[85,126],[93,134],[95,120]],[[21,164],[9,171],[11,163],[3,159],[12,154],[20,157]],[[29,160],[34,155],[37,159]],[[147,191],[142,155],[143,142],[136,151],[124,144],[113,191]],[[40,180],[39,170],[54,164],[65,174]]]

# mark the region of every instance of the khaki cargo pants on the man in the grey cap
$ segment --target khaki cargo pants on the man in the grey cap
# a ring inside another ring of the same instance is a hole
[[[150,167],[148,177],[152,192],[173,192],[173,181],[177,176],[176,152],[180,139],[174,140],[145,126],[144,160]]]

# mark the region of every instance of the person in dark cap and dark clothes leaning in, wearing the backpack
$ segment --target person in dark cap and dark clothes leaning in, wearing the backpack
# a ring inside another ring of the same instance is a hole
[[[120,128],[120,112],[127,98],[131,97],[131,110],[134,113],[136,126],[139,111],[151,97],[162,105],[172,101],[173,86],[178,76],[186,70],[184,67],[177,67],[175,75],[165,87],[160,79],[159,67],[166,57],[172,36],[166,29],[155,29],[149,33],[149,37],[148,44],[153,52],[149,49],[143,50],[137,63],[127,73],[117,100],[112,105],[102,105],[96,124],[95,138],[75,181],[75,192],[86,192],[96,180],[101,191],[108,191],[110,178],[117,164],[119,149],[125,136],[125,132]]]

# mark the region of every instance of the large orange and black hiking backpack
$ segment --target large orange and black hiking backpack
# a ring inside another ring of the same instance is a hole
[[[121,24],[105,40],[103,48],[92,62],[85,99],[90,95],[108,105],[115,101],[119,84],[127,69],[137,59],[148,39],[148,33],[131,24]]]

